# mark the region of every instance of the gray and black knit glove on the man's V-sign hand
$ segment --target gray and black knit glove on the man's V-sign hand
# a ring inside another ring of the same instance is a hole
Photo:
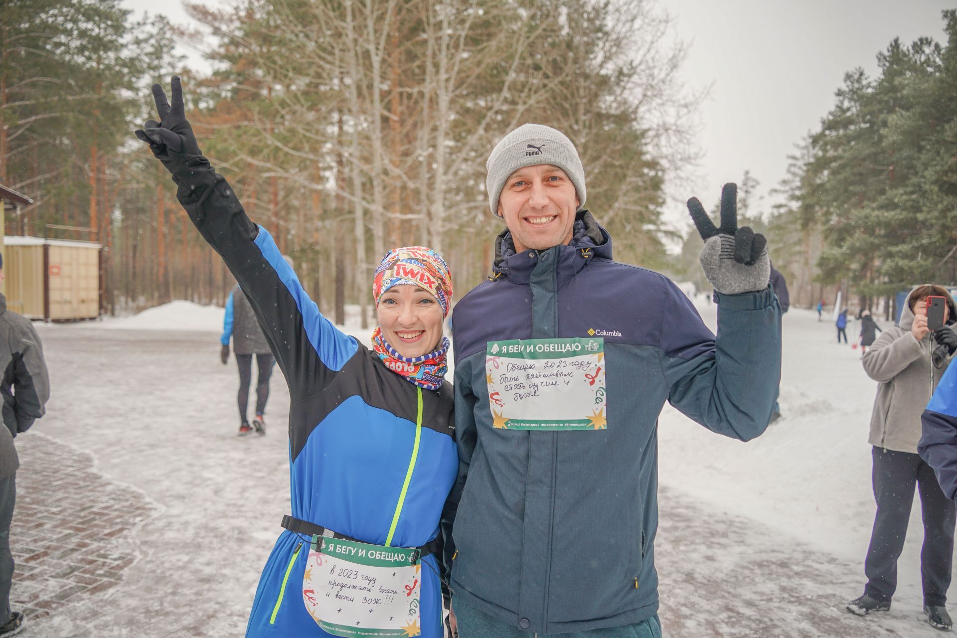
[[[748,227],[738,228],[736,185],[725,184],[722,189],[721,228],[715,228],[697,197],[688,200],[688,210],[704,240],[701,268],[715,290],[722,295],[740,295],[768,288],[768,240]]]

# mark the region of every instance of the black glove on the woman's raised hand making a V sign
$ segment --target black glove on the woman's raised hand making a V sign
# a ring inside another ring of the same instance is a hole
[[[202,158],[203,153],[199,150],[192,126],[189,125],[189,121],[186,121],[186,115],[184,115],[183,89],[178,76],[172,77],[169,87],[173,99],[172,106],[167,102],[167,94],[163,92],[163,87],[153,84],[153,99],[156,101],[156,111],[160,115],[160,121],[146,121],[143,129],[136,131],[136,137],[148,143],[153,155],[163,162],[170,173],[174,173],[177,168],[190,160]]]

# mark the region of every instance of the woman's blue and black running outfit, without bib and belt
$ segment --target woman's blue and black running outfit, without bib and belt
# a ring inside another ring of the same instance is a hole
[[[192,223],[249,297],[289,384],[292,517],[383,545],[412,459],[417,387],[323,317],[273,237],[253,224],[205,158],[174,174]],[[421,435],[391,545],[436,537],[456,480],[453,388],[422,390]],[[277,524],[279,521],[276,521]],[[282,532],[262,570],[246,636],[326,636],[302,602],[307,537]],[[435,555],[423,559],[423,638],[442,635]]]

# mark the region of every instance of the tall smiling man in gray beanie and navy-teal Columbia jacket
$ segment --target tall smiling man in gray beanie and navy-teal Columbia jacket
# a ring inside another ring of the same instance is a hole
[[[443,530],[459,635],[658,636],[657,418],[669,401],[737,439],[768,427],[781,308],[765,239],[737,229],[734,185],[720,229],[688,203],[716,339],[671,280],[612,260],[565,135],[525,124],[487,168],[507,230],[456,306],[458,505]]]

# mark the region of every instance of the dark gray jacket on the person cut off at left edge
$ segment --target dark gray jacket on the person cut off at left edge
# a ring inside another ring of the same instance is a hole
[[[50,378],[43,361],[43,345],[33,323],[7,310],[7,297],[0,295],[0,369],[3,381],[3,423],[0,428],[0,478],[20,467],[13,437],[25,432],[44,414],[50,398]]]

